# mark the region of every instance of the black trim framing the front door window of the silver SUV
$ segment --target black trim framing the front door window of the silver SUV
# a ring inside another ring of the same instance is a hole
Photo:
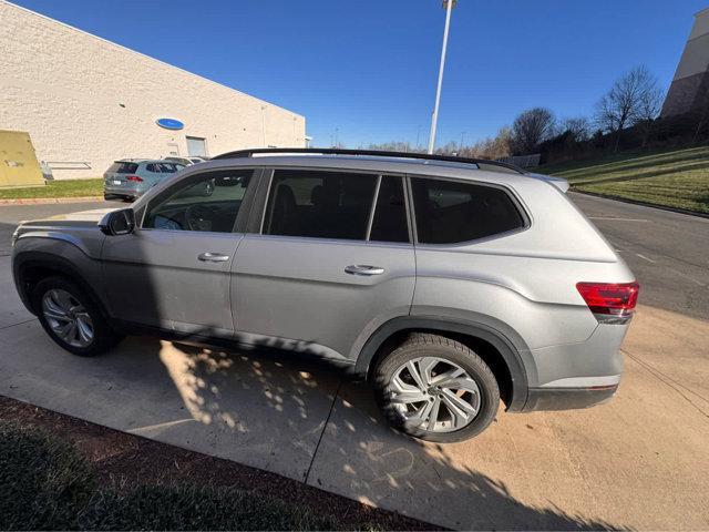
[[[176,188],[191,186],[192,184],[201,181],[206,174],[214,174],[214,173],[220,174],[225,172],[248,172],[248,171],[253,172],[251,182],[249,183],[249,186],[246,188],[246,194],[244,194],[244,200],[242,200],[239,212],[236,214],[236,219],[234,222],[234,226],[232,227],[232,232],[230,233],[219,232],[219,231],[189,232],[189,233],[205,233],[205,234],[213,234],[213,235],[232,235],[232,234],[246,233],[247,221],[249,219],[251,209],[254,207],[254,198],[256,196],[256,191],[259,187],[259,184],[261,181],[263,168],[258,166],[233,166],[233,167],[197,170],[194,173],[191,173],[188,175],[181,177],[177,182],[173,183],[167,188],[156,194],[155,197],[151,197],[150,201],[141,207],[143,212],[140,215],[141,223],[138,224],[138,229],[140,231],[168,231],[171,233],[178,233],[178,234],[185,233],[186,229],[164,229],[164,228],[156,228],[156,227],[144,227],[145,217],[147,216],[147,213],[151,211],[151,208],[155,206],[155,204],[169,197],[172,194],[175,193]]]

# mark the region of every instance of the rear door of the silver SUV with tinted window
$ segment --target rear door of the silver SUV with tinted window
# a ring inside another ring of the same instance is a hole
[[[353,361],[358,338],[411,306],[403,177],[275,170],[261,187],[232,265],[236,338]]]

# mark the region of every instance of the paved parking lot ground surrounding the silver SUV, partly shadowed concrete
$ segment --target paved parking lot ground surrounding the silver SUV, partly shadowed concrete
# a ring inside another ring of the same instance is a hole
[[[573,198],[641,284],[610,403],[501,411],[438,446],[388,429],[366,387],[288,358],[148,338],[73,357],[14,294],[9,237],[101,203],[0,207],[0,393],[454,529],[709,529],[709,219]]]

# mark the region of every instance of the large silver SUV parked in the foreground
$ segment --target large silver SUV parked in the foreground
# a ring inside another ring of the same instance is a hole
[[[618,387],[638,285],[567,187],[489,161],[233,152],[131,208],[20,225],[14,280],[73,354],[145,330],[297,351],[367,378],[400,430],[458,441],[501,399]]]

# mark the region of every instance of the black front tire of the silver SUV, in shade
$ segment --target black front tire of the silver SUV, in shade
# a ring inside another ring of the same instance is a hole
[[[52,326],[42,310],[42,299],[44,298],[44,295],[52,289],[68,291],[73,299],[84,307],[86,314],[89,314],[93,325],[93,338],[89,345],[83,347],[71,345],[60,338],[52,329]],[[50,338],[69,352],[79,355],[80,357],[93,357],[105,352],[123,339],[122,335],[111,328],[105,316],[101,311],[99,304],[94,301],[93,298],[90,297],[89,294],[86,294],[79,285],[66,277],[56,276],[40,280],[32,290],[32,307],[37,310],[40,324],[42,324],[42,327]]]

